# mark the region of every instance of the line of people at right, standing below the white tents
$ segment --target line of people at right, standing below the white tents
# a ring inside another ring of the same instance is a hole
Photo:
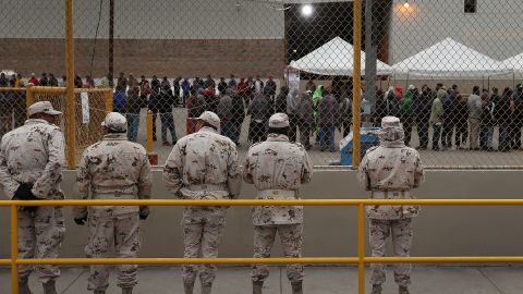
[[[469,149],[510,151],[522,146],[523,86],[515,90],[504,88],[481,89],[474,86],[471,95],[462,95],[457,85],[446,89],[438,84],[435,89],[424,85],[421,90],[409,86],[403,95],[401,87],[378,89],[375,121],[386,115],[401,118],[405,127],[405,144],[412,142],[413,125],[417,126],[418,148],[429,148],[429,130],[433,130],[431,149]],[[498,148],[495,149],[495,127],[499,127]]]

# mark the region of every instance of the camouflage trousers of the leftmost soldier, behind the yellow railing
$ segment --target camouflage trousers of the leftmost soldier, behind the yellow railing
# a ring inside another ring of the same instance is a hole
[[[19,258],[58,258],[65,234],[62,207],[38,207],[35,213],[19,210]],[[38,281],[47,283],[60,277],[56,266],[36,266]],[[27,278],[33,266],[20,266],[20,279]]]

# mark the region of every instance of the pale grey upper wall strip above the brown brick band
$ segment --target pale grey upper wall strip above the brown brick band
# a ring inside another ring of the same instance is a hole
[[[0,12],[2,38],[63,38],[61,0],[8,1]],[[239,5],[236,5],[239,3]],[[74,1],[74,35],[94,38],[100,1]],[[117,0],[114,37],[121,39],[282,39],[283,11],[259,1]],[[104,1],[98,37],[109,35]]]

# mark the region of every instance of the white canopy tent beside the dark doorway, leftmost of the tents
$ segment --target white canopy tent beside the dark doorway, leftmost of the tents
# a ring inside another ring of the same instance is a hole
[[[324,44],[318,49],[304,56],[303,58],[291,61],[291,68],[307,73],[321,75],[350,75],[354,69],[354,47],[340,37],[336,37]],[[365,52],[362,51],[362,74],[365,74]],[[392,73],[392,69],[378,60],[378,75]]]

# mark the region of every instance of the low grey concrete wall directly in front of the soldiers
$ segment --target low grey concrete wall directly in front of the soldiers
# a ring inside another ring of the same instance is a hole
[[[62,185],[71,195],[75,173],[66,172]],[[418,198],[519,198],[523,171],[427,171],[426,183],[415,192]],[[161,173],[155,172],[154,194],[170,198]],[[353,171],[316,171],[313,182],[302,191],[303,198],[363,198]],[[242,197],[254,195],[244,185]],[[70,196],[71,198],[74,196]],[[520,255],[523,236],[521,207],[424,207],[414,222],[413,256]],[[68,233],[63,257],[83,256],[87,229],[77,226],[65,209]],[[355,256],[356,209],[344,207],[307,207],[305,209],[305,256]],[[143,222],[142,256],[180,257],[183,254],[182,208],[155,207]],[[250,208],[230,208],[220,254],[223,257],[252,256]],[[0,257],[9,254],[9,210],[0,209]],[[276,255],[279,245],[275,246]],[[367,245],[367,253],[368,245]]]

